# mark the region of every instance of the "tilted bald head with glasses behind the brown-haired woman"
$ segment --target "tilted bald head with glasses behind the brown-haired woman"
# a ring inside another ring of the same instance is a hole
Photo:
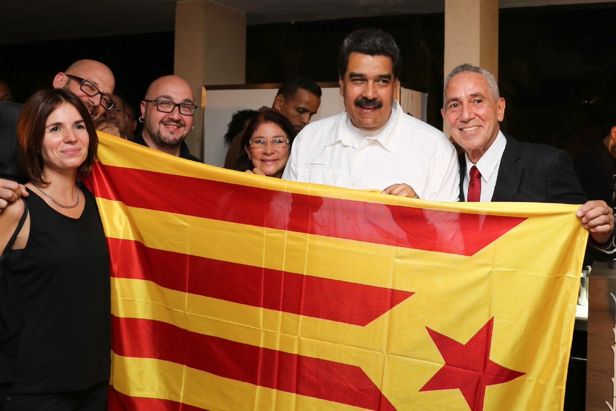
[[[74,76],[74,77],[70,77]],[[67,89],[73,92],[86,105],[92,118],[97,119],[103,113],[104,109],[100,106],[100,94],[90,96],[81,90],[81,81],[75,77],[84,79],[93,84],[102,94],[111,98],[113,89],[115,88],[115,78],[111,73],[110,68],[95,60],[79,60],[70,66],[67,70],[55,75],[53,86],[54,89]]]

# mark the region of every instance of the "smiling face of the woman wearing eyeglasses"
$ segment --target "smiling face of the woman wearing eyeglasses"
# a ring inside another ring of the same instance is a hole
[[[274,122],[264,122],[250,137],[250,141],[254,138],[264,138],[270,140],[272,138],[288,139],[283,129]],[[282,172],[285,170],[286,162],[289,159],[290,146],[282,148],[274,148],[271,142],[265,144],[262,148],[245,147],[248,158],[253,162],[254,167],[258,167],[269,177],[282,177]]]

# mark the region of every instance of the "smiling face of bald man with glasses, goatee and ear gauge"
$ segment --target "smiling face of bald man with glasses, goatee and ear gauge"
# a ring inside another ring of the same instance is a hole
[[[177,76],[155,80],[148,88],[145,100],[195,104],[190,84]],[[177,149],[179,153],[180,144],[192,130],[193,116],[180,114],[179,107],[174,107],[171,113],[163,113],[153,102],[141,102],[141,116],[145,119],[144,139],[150,147],[160,151]]]

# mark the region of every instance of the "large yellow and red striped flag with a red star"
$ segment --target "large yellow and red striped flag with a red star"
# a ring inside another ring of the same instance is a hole
[[[116,410],[561,410],[576,206],[449,204],[100,136]]]

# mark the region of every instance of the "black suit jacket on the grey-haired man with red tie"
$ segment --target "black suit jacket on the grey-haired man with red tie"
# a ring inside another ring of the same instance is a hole
[[[505,134],[492,201],[556,202],[583,204],[586,194],[573,171],[567,152],[557,148],[518,142]],[[460,201],[464,199],[466,159],[460,156]]]

